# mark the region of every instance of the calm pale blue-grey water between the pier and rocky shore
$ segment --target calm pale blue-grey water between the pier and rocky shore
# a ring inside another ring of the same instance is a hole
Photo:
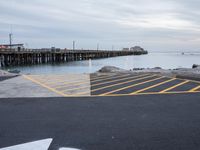
[[[91,73],[103,66],[116,66],[124,69],[162,67],[174,69],[179,67],[191,68],[193,64],[200,64],[200,53],[182,55],[181,53],[149,53],[142,56],[123,56],[90,61],[68,62],[62,64],[47,64],[7,68],[20,70],[30,74],[65,74]]]

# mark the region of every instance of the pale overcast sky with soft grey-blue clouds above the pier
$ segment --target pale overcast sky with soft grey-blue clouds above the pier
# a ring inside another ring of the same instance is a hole
[[[200,51],[199,0],[0,0],[0,43]]]

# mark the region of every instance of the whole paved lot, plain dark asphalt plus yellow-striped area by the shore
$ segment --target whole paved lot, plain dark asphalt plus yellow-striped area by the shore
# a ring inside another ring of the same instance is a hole
[[[2,150],[38,143],[48,150],[200,149],[198,81],[120,73],[25,75],[1,84]]]

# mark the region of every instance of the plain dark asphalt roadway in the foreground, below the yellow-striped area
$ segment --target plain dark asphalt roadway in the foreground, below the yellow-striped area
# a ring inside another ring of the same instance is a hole
[[[198,150],[200,93],[0,99],[0,148]]]

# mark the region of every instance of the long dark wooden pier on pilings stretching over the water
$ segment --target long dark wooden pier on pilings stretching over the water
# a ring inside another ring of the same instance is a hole
[[[0,67],[35,65],[45,63],[59,63],[81,61],[127,55],[141,55],[147,52],[106,51],[106,50],[1,50]]]

